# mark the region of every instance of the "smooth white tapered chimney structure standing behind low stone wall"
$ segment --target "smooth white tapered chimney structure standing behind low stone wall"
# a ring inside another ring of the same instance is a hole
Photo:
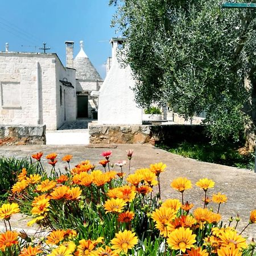
[[[99,125],[141,125],[142,109],[137,107],[130,66],[121,67],[117,60],[118,38],[113,38],[112,64],[100,89]]]

